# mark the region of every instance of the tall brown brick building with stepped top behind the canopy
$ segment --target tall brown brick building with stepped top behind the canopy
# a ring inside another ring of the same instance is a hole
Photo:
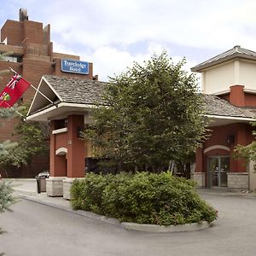
[[[38,86],[42,76],[47,74],[97,80],[97,76],[93,76],[92,63],[86,62],[88,67],[85,73],[76,72],[75,68],[74,71],[69,72],[67,68],[62,67],[63,63],[77,65],[77,63],[83,62],[80,61],[79,55],[54,52],[53,43],[50,41],[50,25],[43,26],[41,22],[28,20],[26,9],[20,9],[19,15],[19,21],[6,20],[1,29],[0,53],[9,52],[11,55],[5,56],[4,60],[0,61],[0,70],[12,67],[35,87]],[[3,76],[3,80],[0,81],[1,91],[9,79],[10,75]],[[23,102],[31,101],[34,94],[35,90],[32,88],[26,90],[22,99]],[[15,120],[0,119],[0,122],[2,124],[0,143],[7,139],[15,139],[12,137]],[[36,170],[35,165],[37,166]],[[13,176],[32,177],[36,172],[40,172],[48,166],[48,160],[42,160],[40,163],[34,163],[32,168],[23,167],[20,172],[14,172]]]

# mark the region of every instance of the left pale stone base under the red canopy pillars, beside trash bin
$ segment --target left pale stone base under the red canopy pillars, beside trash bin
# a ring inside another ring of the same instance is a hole
[[[46,195],[63,196],[63,180],[66,177],[49,177],[46,180]]]

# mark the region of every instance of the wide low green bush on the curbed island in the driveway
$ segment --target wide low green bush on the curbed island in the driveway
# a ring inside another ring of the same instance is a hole
[[[194,182],[169,172],[89,173],[73,183],[71,195],[74,209],[139,224],[211,223],[217,218],[196,194]]]

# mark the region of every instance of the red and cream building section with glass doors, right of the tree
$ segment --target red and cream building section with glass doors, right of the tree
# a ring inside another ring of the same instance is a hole
[[[210,132],[196,151],[194,179],[201,187],[256,189],[253,162],[233,157],[255,139],[256,52],[236,45],[191,69],[201,73]]]

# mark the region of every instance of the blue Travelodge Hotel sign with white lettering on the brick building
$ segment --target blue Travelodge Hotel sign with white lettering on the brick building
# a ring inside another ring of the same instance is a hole
[[[67,73],[89,73],[89,62],[74,61],[74,60],[61,60],[61,71]]]

